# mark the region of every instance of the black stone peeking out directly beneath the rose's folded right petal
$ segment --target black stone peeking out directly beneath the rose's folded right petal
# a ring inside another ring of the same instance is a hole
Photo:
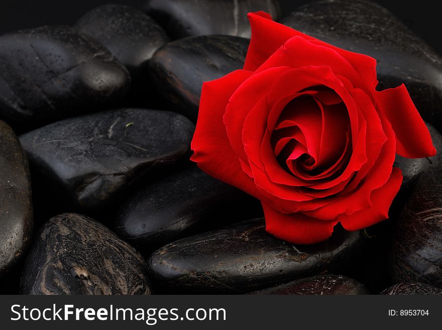
[[[437,154],[433,157],[414,159],[396,155],[393,166],[399,167],[402,170],[403,181],[401,190],[408,190],[411,188],[426,170],[430,167],[438,166],[440,163],[440,155],[442,154],[442,136],[432,125],[426,123],[426,126],[430,132]]]

